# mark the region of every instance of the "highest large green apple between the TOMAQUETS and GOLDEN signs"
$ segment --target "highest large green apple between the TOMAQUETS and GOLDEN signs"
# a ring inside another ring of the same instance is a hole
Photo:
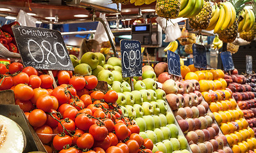
[[[89,64],[90,68],[94,70],[99,64],[98,56],[94,52],[86,52],[81,57],[80,63]]]

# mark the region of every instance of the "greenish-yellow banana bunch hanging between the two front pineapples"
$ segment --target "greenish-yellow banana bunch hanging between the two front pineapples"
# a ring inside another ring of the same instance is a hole
[[[200,13],[204,0],[181,0],[178,17],[191,18]]]

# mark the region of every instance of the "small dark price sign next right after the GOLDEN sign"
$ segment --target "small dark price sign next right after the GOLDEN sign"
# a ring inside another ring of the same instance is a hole
[[[180,55],[175,52],[167,51],[168,58],[168,72],[169,74],[181,76],[180,73]]]

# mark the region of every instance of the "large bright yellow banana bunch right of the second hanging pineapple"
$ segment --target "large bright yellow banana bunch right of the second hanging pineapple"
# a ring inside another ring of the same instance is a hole
[[[219,6],[215,4],[210,24],[206,30],[214,30],[214,33],[219,33],[221,30],[231,27],[235,22],[235,17],[235,8],[230,2],[219,3]]]

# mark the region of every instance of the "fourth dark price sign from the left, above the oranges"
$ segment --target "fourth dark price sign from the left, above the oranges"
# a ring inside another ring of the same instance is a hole
[[[195,68],[207,68],[206,50],[203,45],[193,44],[193,60]]]

